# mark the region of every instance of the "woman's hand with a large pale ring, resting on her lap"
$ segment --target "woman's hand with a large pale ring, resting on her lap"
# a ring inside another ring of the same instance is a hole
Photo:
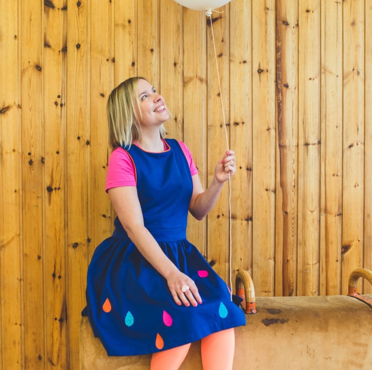
[[[167,276],[167,284],[174,302],[180,306],[184,304],[194,307],[202,304],[202,298],[199,295],[198,288],[194,281],[188,275],[177,270]]]

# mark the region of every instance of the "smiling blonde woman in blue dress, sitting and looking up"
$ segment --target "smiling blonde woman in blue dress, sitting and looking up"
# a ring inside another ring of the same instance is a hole
[[[187,146],[165,139],[169,113],[143,77],[108,101],[106,191],[116,229],[88,267],[84,314],[109,355],[152,353],[151,370],[176,370],[202,339],[204,369],[232,368],[234,327],[245,314],[223,280],[186,239],[188,211],[203,219],[234,175],[227,151],[204,191]]]

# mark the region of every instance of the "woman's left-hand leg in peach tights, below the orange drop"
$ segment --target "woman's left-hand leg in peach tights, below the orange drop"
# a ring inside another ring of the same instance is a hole
[[[191,343],[152,354],[150,370],[178,370],[189,352]]]

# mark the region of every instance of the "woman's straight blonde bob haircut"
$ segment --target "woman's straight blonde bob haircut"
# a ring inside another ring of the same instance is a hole
[[[141,115],[141,109],[137,92],[140,79],[148,81],[145,77],[130,77],[111,91],[107,102],[107,119],[112,148],[130,147],[133,141],[142,138],[138,117],[138,113]],[[165,135],[165,127],[161,125],[160,136],[163,139]]]

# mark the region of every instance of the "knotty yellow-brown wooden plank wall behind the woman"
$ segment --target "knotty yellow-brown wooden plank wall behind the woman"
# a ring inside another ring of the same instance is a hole
[[[337,295],[372,268],[369,1],[231,0],[211,19],[173,0],[0,9],[1,368],[78,368],[87,265],[113,231],[106,101],[129,76],[164,96],[204,186],[236,152],[188,229],[228,284],[231,264],[257,296]]]

